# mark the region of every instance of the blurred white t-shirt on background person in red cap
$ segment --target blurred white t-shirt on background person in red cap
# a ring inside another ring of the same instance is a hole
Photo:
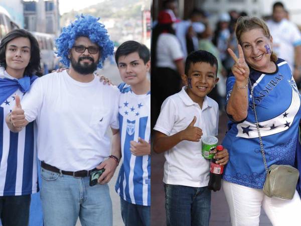
[[[177,70],[176,60],[183,59],[180,42],[170,33],[163,33],[157,41],[157,67],[169,67]]]

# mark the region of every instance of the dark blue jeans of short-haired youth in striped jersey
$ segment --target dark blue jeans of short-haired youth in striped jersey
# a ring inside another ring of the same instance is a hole
[[[150,206],[132,204],[123,198],[120,205],[125,226],[150,226]]]

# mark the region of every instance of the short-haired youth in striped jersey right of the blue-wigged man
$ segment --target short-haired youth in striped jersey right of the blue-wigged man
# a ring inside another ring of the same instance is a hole
[[[125,226],[150,225],[150,52],[135,41],[122,43],[115,60],[122,81],[118,87],[122,165],[115,185]]]

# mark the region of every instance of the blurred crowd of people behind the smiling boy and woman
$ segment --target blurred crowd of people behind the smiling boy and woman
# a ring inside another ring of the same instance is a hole
[[[152,120],[156,122],[162,102],[166,97],[179,92],[181,75],[185,73],[185,59],[196,50],[206,50],[218,59],[219,82],[209,94],[224,110],[226,79],[234,64],[228,54],[230,48],[238,55],[235,24],[245,12],[231,10],[218,16],[211,27],[211,15],[203,9],[193,9],[187,20],[178,17],[176,0],[166,0],[158,20],[153,23],[152,35]],[[290,66],[294,80],[300,88],[301,35],[297,26],[289,21],[289,15],[281,2],[274,3],[272,15],[263,18],[273,38],[273,52]],[[155,91],[154,91],[155,90]]]

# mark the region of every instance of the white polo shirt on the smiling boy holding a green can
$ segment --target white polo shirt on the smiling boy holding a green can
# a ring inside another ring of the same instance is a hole
[[[218,104],[206,96],[201,109],[186,93],[185,87],[162,104],[155,130],[172,136],[188,127],[194,116],[203,136],[217,136]],[[209,160],[202,156],[202,143],[181,141],[165,152],[163,182],[166,184],[204,187],[209,182]]]

